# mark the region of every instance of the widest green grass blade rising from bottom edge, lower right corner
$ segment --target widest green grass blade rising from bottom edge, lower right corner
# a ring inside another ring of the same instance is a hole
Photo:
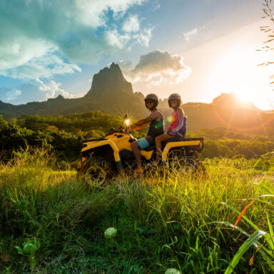
[[[228,268],[225,270],[225,274],[233,273],[233,269],[236,265],[238,265],[240,258],[242,258],[243,254],[253,245],[257,240],[265,235],[265,231],[263,230],[256,230],[248,240],[245,240],[245,243],[240,246],[238,252],[234,255],[233,259],[231,260]]]

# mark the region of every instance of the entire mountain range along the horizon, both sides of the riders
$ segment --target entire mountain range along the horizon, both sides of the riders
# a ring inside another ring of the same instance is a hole
[[[133,93],[131,83],[113,63],[93,76],[91,89],[81,98],[67,99],[59,95],[48,101],[19,106],[0,101],[0,114],[12,118],[28,114],[56,116],[102,111],[120,116],[128,112],[134,118],[141,118],[148,114],[143,99],[142,93]],[[235,93],[222,93],[212,103],[185,103],[182,107],[188,116],[188,129],[225,127],[230,131],[274,136],[274,113],[261,111],[250,101],[240,100]],[[167,99],[160,100],[159,108],[165,117],[171,115]]]

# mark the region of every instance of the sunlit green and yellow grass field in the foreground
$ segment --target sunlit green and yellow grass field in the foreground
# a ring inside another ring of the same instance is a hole
[[[0,166],[0,273],[225,273],[258,229],[270,237],[231,271],[274,272],[274,158],[203,163],[207,176],[163,168],[98,186],[46,151],[16,153]]]

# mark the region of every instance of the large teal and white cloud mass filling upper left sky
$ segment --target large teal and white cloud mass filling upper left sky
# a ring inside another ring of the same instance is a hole
[[[2,0],[0,75],[51,78],[132,44],[148,46],[152,28],[142,30],[136,14],[124,19],[129,8],[144,1]]]

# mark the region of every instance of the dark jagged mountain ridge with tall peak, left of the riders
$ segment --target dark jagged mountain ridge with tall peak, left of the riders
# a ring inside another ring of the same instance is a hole
[[[0,113],[4,118],[25,114],[65,115],[103,111],[111,114],[124,114],[127,111],[145,115],[143,94],[133,93],[131,83],[123,77],[121,68],[111,64],[93,76],[91,89],[81,98],[64,98],[59,95],[43,102],[30,102],[19,106],[0,101]],[[143,108],[140,108],[143,106]]]

